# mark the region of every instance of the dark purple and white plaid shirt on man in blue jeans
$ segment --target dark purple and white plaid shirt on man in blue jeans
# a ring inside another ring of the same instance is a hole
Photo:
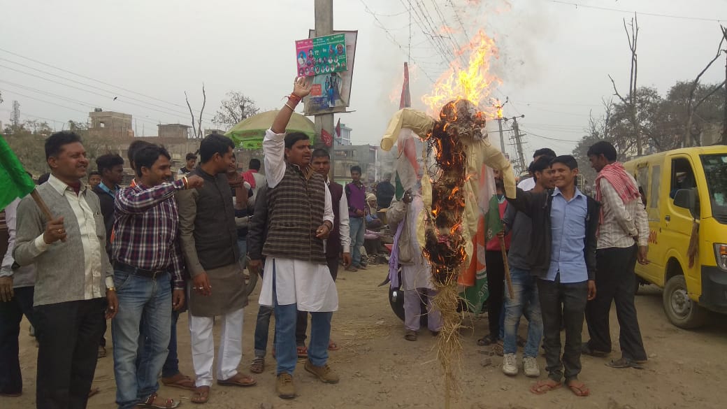
[[[113,260],[145,270],[168,270],[174,290],[184,289],[184,263],[179,243],[179,213],[174,192],[184,182],[146,188],[133,183],[116,194]]]

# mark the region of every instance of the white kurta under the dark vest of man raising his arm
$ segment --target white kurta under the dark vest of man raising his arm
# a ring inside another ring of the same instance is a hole
[[[262,140],[262,151],[268,187],[275,188],[285,175],[285,134],[267,130]],[[325,196],[323,220],[333,223],[331,193],[327,185]],[[268,257],[265,260],[260,305],[273,306],[273,268],[278,304],[297,303],[300,311],[337,311],[338,292],[326,264],[281,257]]]

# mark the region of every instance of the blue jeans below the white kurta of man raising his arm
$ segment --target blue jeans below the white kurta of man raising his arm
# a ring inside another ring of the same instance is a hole
[[[276,375],[293,374],[298,360],[295,346],[295,325],[297,321],[297,304],[281,306],[276,295],[276,267],[273,263],[273,303],[275,303],[275,353],[278,367]],[[326,365],[328,361],[328,342],[331,337],[332,311],[310,312],[310,342],[308,343],[308,360],[315,366]]]

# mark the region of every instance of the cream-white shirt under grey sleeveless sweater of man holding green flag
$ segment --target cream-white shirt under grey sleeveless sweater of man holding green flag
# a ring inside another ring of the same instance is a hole
[[[86,195],[89,192],[90,194],[94,193],[86,186],[81,186],[81,191],[79,191],[79,194],[76,194],[71,186],[68,186],[54,175],[50,175],[48,183],[58,194],[68,200],[73,214],[76,215],[76,221],[79,223],[81,245],[84,247],[84,299],[91,300],[93,298],[105,297],[106,295],[101,293],[101,289],[113,287],[113,277],[106,277],[105,286],[102,284],[101,252],[105,250],[101,248],[96,235],[96,220],[93,210],[91,210],[91,207],[86,202]],[[68,223],[68,221],[64,221],[64,223]],[[44,241],[42,233],[39,237],[36,237],[35,245],[39,253],[48,250],[50,246]]]

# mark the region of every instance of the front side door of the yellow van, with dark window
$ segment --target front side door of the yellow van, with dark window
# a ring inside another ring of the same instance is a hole
[[[689,238],[691,237],[691,229],[694,224],[694,218],[688,209],[677,207],[674,205],[674,195],[680,189],[696,189],[696,174],[694,173],[694,164],[691,158],[686,154],[677,154],[667,156],[667,165],[669,181],[669,194],[662,194],[662,241],[664,242],[664,258],[669,253],[678,253],[683,255],[683,273],[687,281],[688,288],[699,287],[699,283],[694,281],[694,274],[689,274],[688,257],[686,250],[689,247]],[[665,260],[662,258],[664,262]],[[699,263],[696,263],[699,264]],[[664,270],[664,273],[666,271]]]

